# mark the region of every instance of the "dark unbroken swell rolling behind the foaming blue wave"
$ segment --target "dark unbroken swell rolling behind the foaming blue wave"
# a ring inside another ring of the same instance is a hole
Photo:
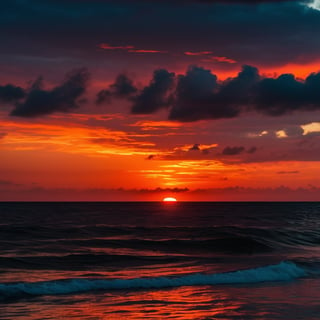
[[[165,235],[165,236],[164,236]],[[108,247],[189,252],[264,253],[318,247],[319,229],[257,227],[112,227],[0,226],[0,249],[11,250],[28,240],[31,247]]]

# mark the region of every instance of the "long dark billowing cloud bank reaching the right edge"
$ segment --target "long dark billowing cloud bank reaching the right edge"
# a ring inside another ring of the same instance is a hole
[[[277,78],[259,75],[258,69],[243,66],[242,71],[219,82],[210,70],[191,66],[185,75],[177,77],[173,94],[167,92],[173,84],[170,73],[162,70],[166,81],[145,87],[137,96],[133,113],[149,114],[169,107],[170,120],[182,122],[234,118],[243,112],[255,111],[269,116],[282,116],[294,111],[320,110],[320,73],[309,75],[305,81],[291,74]],[[301,128],[288,128],[288,135],[302,134]],[[293,132],[294,131],[294,132]]]

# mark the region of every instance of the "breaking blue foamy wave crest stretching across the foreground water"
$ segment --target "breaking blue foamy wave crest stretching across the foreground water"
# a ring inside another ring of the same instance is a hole
[[[254,269],[216,274],[190,274],[181,277],[153,277],[133,279],[63,279],[41,282],[0,284],[0,297],[17,298],[25,295],[59,295],[95,290],[161,289],[180,286],[217,284],[251,284],[259,282],[290,281],[305,277],[308,272],[291,261]]]

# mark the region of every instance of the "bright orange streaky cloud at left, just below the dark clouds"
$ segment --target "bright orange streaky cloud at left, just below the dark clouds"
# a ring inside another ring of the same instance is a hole
[[[0,125],[7,133],[1,143],[5,150],[41,149],[86,155],[143,156],[155,152],[153,142],[138,141],[141,136],[121,130],[71,122],[66,125],[2,121]]]

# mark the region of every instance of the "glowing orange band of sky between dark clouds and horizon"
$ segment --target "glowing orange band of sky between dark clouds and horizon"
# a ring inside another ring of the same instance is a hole
[[[113,119],[112,115],[104,117]],[[320,187],[315,178],[320,173],[317,161],[253,160],[246,163],[243,159],[233,157],[229,163],[223,157],[202,159],[196,154],[197,151],[191,154],[193,143],[199,140],[192,134],[196,132],[195,127],[202,127],[202,134],[206,135],[203,132],[210,130],[211,122],[183,125],[178,122],[132,119],[130,124],[124,125],[124,130],[115,130],[105,124],[87,124],[89,118],[101,119],[99,114],[52,115],[31,122],[4,118],[1,127],[6,135],[1,139],[1,180],[12,183],[13,198],[15,193],[19,198],[21,190],[32,188],[35,188],[34,194],[31,192],[31,198],[34,199],[39,192],[36,188],[195,190],[234,186],[253,189]],[[118,118],[120,122],[127,122],[127,119]],[[103,123],[108,123],[108,120]],[[307,128],[310,130],[310,126]],[[319,129],[316,126],[314,130]],[[179,141],[181,137],[189,143],[182,144]],[[263,138],[263,135],[251,138],[252,144],[256,145]],[[159,139],[161,143],[157,142]],[[281,139],[287,138],[278,138]],[[211,138],[211,142],[201,144],[199,149],[219,148],[214,138]],[[47,193],[50,194],[50,191]],[[221,194],[218,197],[214,192],[204,194],[145,192],[142,196],[130,195],[128,198],[159,200],[165,195],[175,195],[185,201],[225,200]],[[117,195],[115,199],[117,197],[125,198]],[[101,195],[98,198],[104,200]],[[252,200],[255,200],[254,196]]]

